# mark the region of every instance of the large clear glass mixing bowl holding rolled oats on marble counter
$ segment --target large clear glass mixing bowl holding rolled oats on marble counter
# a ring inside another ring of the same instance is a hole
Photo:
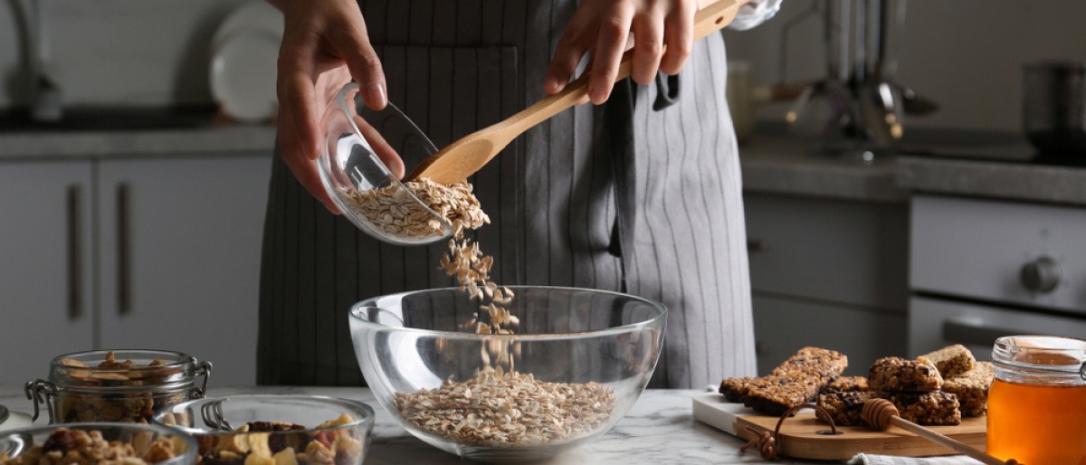
[[[664,305],[617,292],[510,286],[516,334],[476,334],[459,289],[369,299],[351,338],[378,402],[412,435],[483,462],[550,457],[606,432],[664,344]]]

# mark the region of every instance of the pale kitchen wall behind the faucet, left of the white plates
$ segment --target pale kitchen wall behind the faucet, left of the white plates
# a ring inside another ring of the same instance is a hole
[[[0,0],[0,108],[27,102],[17,12],[29,1],[66,104],[153,106],[211,102],[211,37],[245,0]]]

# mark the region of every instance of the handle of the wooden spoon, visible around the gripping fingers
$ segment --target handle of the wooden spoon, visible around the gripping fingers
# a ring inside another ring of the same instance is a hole
[[[694,41],[698,41],[705,36],[723,29],[731,24],[732,20],[735,18],[735,14],[738,13],[738,9],[740,5],[736,4],[735,0],[719,0],[698,10],[694,14]],[[622,61],[619,62],[618,75],[615,76],[615,81],[617,83],[629,76],[632,66],[633,50],[631,49],[622,54]],[[567,84],[558,93],[544,97],[531,106],[506,120],[506,127],[521,129],[513,138],[583,100],[589,93],[589,73],[582,74],[572,83]],[[510,138],[510,141],[513,138]]]

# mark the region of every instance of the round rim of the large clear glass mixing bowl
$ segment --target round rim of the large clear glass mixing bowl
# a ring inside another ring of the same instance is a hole
[[[460,291],[460,289],[457,288],[457,287],[447,287],[447,288],[434,288],[434,289],[421,289],[421,290],[414,290],[414,291],[403,291],[403,292],[395,292],[395,293],[390,293],[390,294],[386,294],[386,296],[371,297],[369,299],[362,300],[362,301],[356,302],[353,305],[351,305],[351,310],[348,311],[348,315],[349,315],[349,318],[350,318],[351,322],[357,322],[358,324],[364,325],[366,327],[370,327],[372,329],[389,330],[389,331],[404,331],[404,332],[412,332],[412,334],[418,334],[418,335],[437,336],[437,337],[441,337],[441,338],[445,338],[445,339],[467,339],[467,340],[470,340],[470,339],[476,339],[476,340],[507,339],[507,340],[513,341],[513,340],[528,340],[528,339],[531,339],[533,341],[535,341],[535,340],[558,341],[558,340],[573,340],[573,339],[590,339],[590,338],[596,338],[596,337],[615,336],[615,335],[621,335],[621,334],[631,332],[631,331],[634,331],[634,330],[637,330],[637,329],[642,329],[642,328],[648,327],[648,326],[653,325],[654,323],[656,323],[657,321],[660,322],[660,326],[664,326],[665,324],[667,324],[667,319],[666,319],[667,315],[668,315],[668,307],[667,307],[667,305],[664,305],[661,302],[658,302],[658,301],[655,301],[655,300],[652,300],[652,299],[646,299],[646,298],[643,298],[643,297],[640,297],[640,296],[630,294],[630,293],[623,293],[623,292],[610,291],[610,290],[601,290],[601,289],[566,287],[566,286],[530,286],[530,285],[517,285],[517,286],[500,286],[498,288],[509,288],[509,289],[514,289],[514,290],[532,290],[532,289],[538,289],[538,290],[548,290],[548,291],[550,290],[590,291],[590,292],[599,293],[599,294],[619,296],[619,297],[629,298],[629,299],[632,299],[632,300],[636,300],[636,301],[641,301],[643,303],[646,303],[651,307],[653,307],[654,310],[656,310],[658,313],[657,313],[657,315],[655,315],[655,316],[653,316],[652,318],[648,318],[648,319],[644,319],[644,321],[636,322],[636,323],[629,323],[629,324],[621,325],[621,326],[614,326],[614,327],[609,327],[609,328],[606,328],[606,329],[596,329],[596,330],[590,330],[590,331],[563,332],[563,334],[543,334],[543,335],[532,335],[532,334],[500,335],[500,334],[494,334],[494,332],[478,334],[478,332],[441,331],[441,330],[437,330],[437,329],[408,328],[408,327],[403,327],[403,326],[399,326],[397,327],[397,326],[382,325],[382,324],[379,324],[379,323],[372,323],[372,322],[370,322],[368,319],[365,319],[365,318],[363,318],[363,317],[361,317],[361,316],[358,316],[358,315],[355,314],[355,311],[359,310],[359,309],[380,309],[379,306],[376,306],[376,305],[366,305],[366,303],[369,303],[369,302],[376,303],[377,301],[383,300],[383,299],[397,299],[399,298],[399,299],[402,300],[403,297],[411,296],[411,294],[420,294],[420,293],[437,292],[437,291]]]

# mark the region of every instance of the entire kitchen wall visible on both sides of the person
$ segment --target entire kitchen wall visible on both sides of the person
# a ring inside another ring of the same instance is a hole
[[[211,35],[245,0],[0,0],[0,108],[25,104],[27,85],[14,11],[39,1],[58,79],[70,104],[207,103]],[[781,13],[749,32],[727,32],[731,59],[748,61],[758,84],[820,77],[822,24],[790,33],[779,66],[781,27],[821,1],[785,0]],[[1086,1],[913,0],[897,80],[942,110],[907,127],[1018,130],[1021,65],[1038,59],[1086,61]],[[786,105],[765,105],[780,120]]]

